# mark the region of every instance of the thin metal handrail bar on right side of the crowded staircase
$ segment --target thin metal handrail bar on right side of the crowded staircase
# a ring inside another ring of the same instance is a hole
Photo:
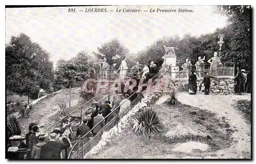
[[[167,66],[165,66],[164,68],[166,68]],[[148,80],[147,81],[147,83],[148,82],[152,82],[152,80],[158,75],[158,74],[160,74],[162,71],[163,71],[164,69],[162,69],[160,72],[158,72],[154,77],[152,77],[150,80]],[[165,71],[166,72],[166,71]],[[137,93],[140,89],[142,89],[144,86],[146,85],[146,83],[145,84],[143,84],[140,88],[138,88],[138,90],[136,90],[129,98],[131,98],[135,93]],[[127,100],[129,99],[129,98],[127,98]],[[126,101],[127,101],[126,100]],[[123,103],[125,103],[126,101],[124,101]],[[122,104],[123,104],[122,103]],[[83,136],[82,136],[82,139],[85,137],[85,136],[87,136],[89,133],[91,133],[92,131],[93,131],[93,129],[96,127],[96,126],[98,126],[102,121],[104,121],[110,114],[112,114],[114,111],[116,111],[122,104],[119,104],[114,110],[112,110],[108,115],[106,115],[105,117],[104,117],[104,119],[102,119],[99,123],[97,123],[89,132],[87,132],[86,134],[84,134]],[[69,153],[69,156],[68,156],[68,159],[69,159],[69,157],[70,157],[70,155],[71,155],[71,153],[72,153],[72,151],[73,151],[73,149],[75,148],[75,146],[78,144],[78,142],[76,142],[75,143],[75,145],[72,147],[72,149],[70,150],[70,153]],[[78,153],[79,153],[79,150],[78,150]]]

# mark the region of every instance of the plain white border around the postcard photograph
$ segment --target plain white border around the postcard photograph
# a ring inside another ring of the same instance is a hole
[[[185,0],[179,0],[179,1],[176,1],[176,2],[173,2],[173,1],[163,1],[163,0],[157,0],[157,1],[138,1],[138,0],[130,0],[130,1],[115,1],[115,0],[109,0],[109,1],[99,1],[99,0],[93,0],[93,1],[90,1],[90,3],[88,1],[67,1],[67,0],[62,0],[62,1],[52,1],[52,0],[44,0],[44,1],[27,1],[27,0],[23,0],[23,1],[1,1],[1,4],[3,3],[3,5],[1,5],[1,20],[2,20],[2,24],[1,24],[1,31],[2,31],[2,55],[1,55],[1,69],[2,70],[0,72],[1,74],[1,100],[2,100],[2,105],[3,105],[3,109],[2,109],[2,125],[5,125],[5,109],[4,109],[4,105],[5,105],[5,47],[4,47],[4,43],[5,43],[5,6],[4,5],[251,5],[252,7],[255,7],[255,1],[252,1],[252,0],[249,0],[249,1],[223,1],[223,0],[215,0],[215,1],[205,1],[205,0],[194,0],[194,1],[185,1]],[[254,14],[253,14],[254,15]],[[253,17],[253,20],[254,20],[254,17]],[[252,21],[254,22],[254,21]],[[254,27],[254,26],[253,26]],[[254,28],[253,30],[254,31]],[[253,38],[254,40],[254,38]],[[252,47],[254,48],[255,46],[255,42],[253,43]],[[254,52],[254,51],[253,51]],[[256,57],[253,58],[253,63],[255,63],[255,60],[256,60]],[[255,66],[254,66],[255,67]],[[254,68],[253,67],[253,68]],[[253,69],[253,77],[254,77],[254,69]],[[252,109],[253,110],[253,109]],[[255,115],[255,114],[254,114]],[[252,118],[252,120],[254,120]],[[255,122],[255,121],[254,121]],[[252,127],[254,127],[252,125]],[[8,162],[8,160],[5,159],[5,145],[4,145],[4,141],[5,141],[5,132],[3,131],[2,132],[2,135],[1,136],[1,140],[2,140],[2,143],[3,143],[3,147],[2,147],[2,151],[1,151],[1,160],[4,162]],[[254,142],[255,143],[255,142]],[[254,154],[254,152],[252,152]],[[253,155],[255,157],[255,155]],[[166,160],[165,160],[166,161]],[[191,162],[191,160],[188,160],[189,162]],[[20,161],[19,161],[20,162]],[[13,163],[19,163],[18,161],[13,161]],[[22,162],[26,162],[26,161],[22,161]],[[37,161],[38,162],[38,161]],[[39,162],[42,162],[42,161],[39,161]],[[61,161],[55,161],[55,162],[61,162]],[[69,163],[73,163],[73,162],[77,162],[77,161],[69,161]],[[91,163],[93,161],[84,161],[84,162],[87,162],[87,163]],[[106,162],[106,161],[94,161],[94,162]],[[111,162],[120,162],[120,161],[111,161]],[[127,162],[139,162],[139,161],[127,161]],[[148,161],[144,161],[144,162],[148,162]],[[156,162],[156,161],[153,161],[153,162]],[[158,161],[157,161],[158,162]],[[167,161],[169,162],[169,161]],[[185,161],[181,161],[182,163],[185,162]],[[198,162],[198,161],[195,161],[195,162]],[[208,160],[201,160],[201,162],[210,162]],[[217,161],[218,163],[224,163],[224,162],[227,162],[226,160],[225,161]],[[229,161],[229,162],[237,162],[237,161]],[[241,162],[241,161],[240,161]],[[243,161],[245,162],[245,161]]]

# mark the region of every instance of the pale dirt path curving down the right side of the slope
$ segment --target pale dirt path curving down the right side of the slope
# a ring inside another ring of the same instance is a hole
[[[165,99],[168,97],[165,96]],[[249,94],[242,96],[229,95],[189,95],[188,93],[179,93],[178,100],[186,105],[191,105],[201,109],[206,109],[217,113],[220,118],[224,116],[227,122],[236,127],[238,131],[234,132],[232,137],[235,144],[230,148],[222,149],[216,152],[221,158],[248,158],[251,154],[251,128],[243,120],[242,115],[232,107],[234,102],[239,99],[251,100]],[[162,101],[164,98],[161,99]]]

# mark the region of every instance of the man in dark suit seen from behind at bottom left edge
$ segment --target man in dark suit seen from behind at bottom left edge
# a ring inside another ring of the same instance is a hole
[[[60,152],[65,147],[60,142],[55,141],[56,137],[56,133],[51,133],[49,142],[41,147],[41,159],[60,159]]]

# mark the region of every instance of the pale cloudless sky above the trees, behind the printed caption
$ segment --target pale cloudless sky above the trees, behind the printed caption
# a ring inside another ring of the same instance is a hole
[[[199,36],[226,26],[226,17],[214,13],[212,6],[101,6],[7,8],[6,42],[20,32],[28,35],[46,51],[56,63],[60,58],[70,59],[79,51],[89,53],[113,38],[130,53],[143,50],[163,36]],[[80,12],[86,8],[107,8],[108,12]],[[139,13],[116,12],[117,9],[141,9]],[[159,13],[151,9],[189,9],[193,13]],[[114,11],[111,11],[114,10]],[[144,10],[147,10],[144,11]]]

